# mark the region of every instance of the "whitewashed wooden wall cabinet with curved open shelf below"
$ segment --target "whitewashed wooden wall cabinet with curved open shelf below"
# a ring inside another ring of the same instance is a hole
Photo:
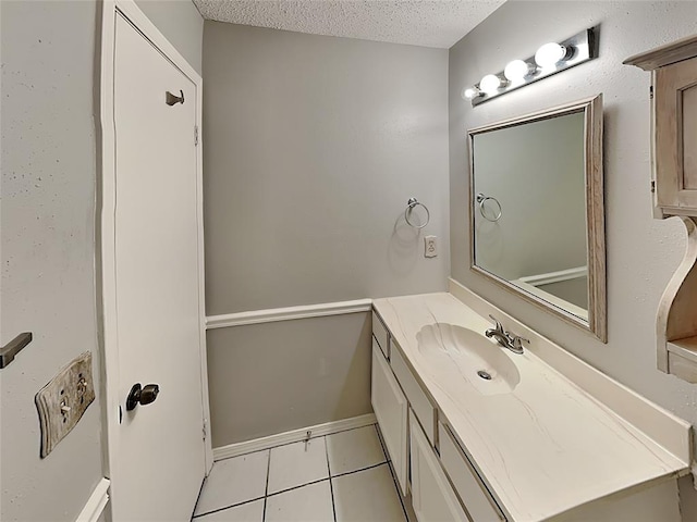
[[[697,383],[697,35],[624,62],[652,75],[655,215],[677,215],[687,252],[657,318],[658,368]]]

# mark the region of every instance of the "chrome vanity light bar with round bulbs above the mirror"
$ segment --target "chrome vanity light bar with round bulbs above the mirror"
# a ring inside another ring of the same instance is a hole
[[[598,57],[597,28],[585,29],[562,41],[540,46],[534,57],[509,62],[503,72],[487,74],[481,80],[462,91],[473,107],[524,85],[587,62]]]

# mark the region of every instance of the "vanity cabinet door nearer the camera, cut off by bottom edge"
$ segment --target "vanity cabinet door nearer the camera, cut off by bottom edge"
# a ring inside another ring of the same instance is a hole
[[[419,522],[467,522],[418,422],[409,415],[412,505]]]

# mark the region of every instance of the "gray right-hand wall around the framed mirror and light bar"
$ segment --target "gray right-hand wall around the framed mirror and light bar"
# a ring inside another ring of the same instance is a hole
[[[508,2],[451,48],[449,73],[453,277],[693,424],[697,387],[656,370],[656,311],[682,258],[685,231],[677,219],[651,219],[650,75],[622,61],[696,33],[696,21],[697,2]],[[474,109],[460,97],[464,86],[502,70],[514,58],[534,54],[540,44],[596,25],[597,60]],[[598,92],[604,96],[607,345],[472,273],[465,241],[466,128]],[[686,486],[683,492],[692,489]],[[692,512],[695,518],[685,520],[697,518],[697,511]]]

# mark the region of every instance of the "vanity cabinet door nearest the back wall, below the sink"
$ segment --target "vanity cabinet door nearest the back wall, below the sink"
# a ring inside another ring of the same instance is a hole
[[[372,378],[370,399],[375,417],[378,419],[382,439],[387,446],[392,467],[400,483],[402,494],[406,495],[407,484],[407,410],[408,403],[392,375],[378,344],[372,341]]]

